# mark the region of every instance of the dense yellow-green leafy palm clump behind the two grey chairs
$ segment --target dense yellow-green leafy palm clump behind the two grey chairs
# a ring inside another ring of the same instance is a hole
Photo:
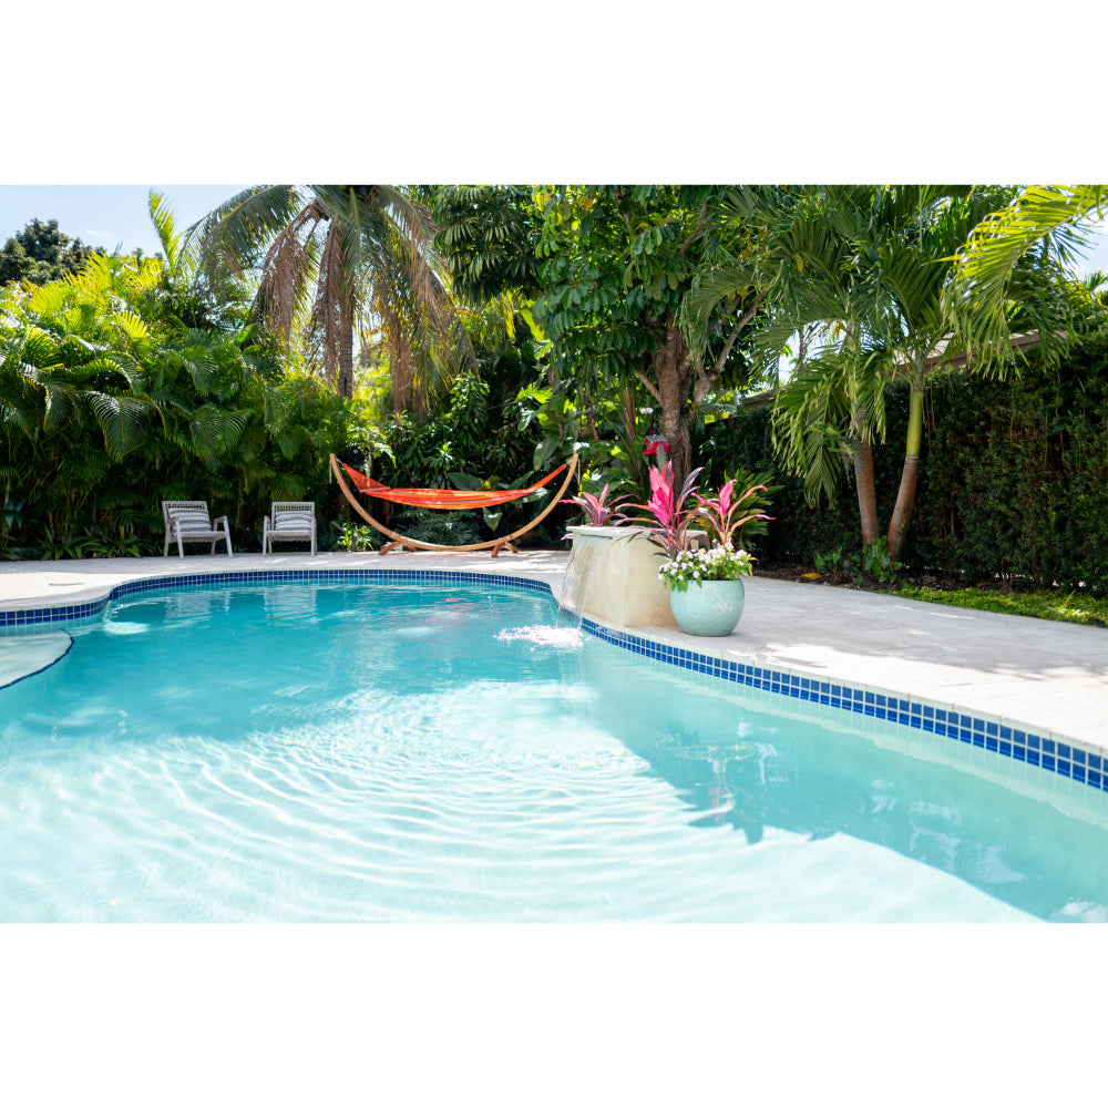
[[[162,499],[207,500],[253,543],[268,502],[322,499],[346,413],[286,377],[245,304],[212,301],[152,197],[165,258],[96,255],[0,294],[0,541],[133,554]]]

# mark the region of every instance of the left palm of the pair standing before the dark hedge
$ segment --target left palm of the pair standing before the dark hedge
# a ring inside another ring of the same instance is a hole
[[[697,275],[683,325],[699,343],[721,302],[752,300],[761,318],[748,355],[763,373],[800,338],[791,387],[778,390],[774,442],[806,495],[833,497],[850,458],[865,542],[878,536],[872,443],[884,434],[884,390],[865,349],[865,298],[854,237],[869,186],[748,187],[720,205],[720,249]],[[815,357],[810,357],[814,348]]]

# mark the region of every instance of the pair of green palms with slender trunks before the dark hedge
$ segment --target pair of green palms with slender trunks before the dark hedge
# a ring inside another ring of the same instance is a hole
[[[753,289],[763,297],[753,347],[772,355],[799,338],[798,365],[777,398],[778,450],[804,478],[810,503],[835,496],[842,459],[851,459],[866,544],[879,537],[872,447],[885,435],[885,390],[909,382],[891,557],[903,548],[915,504],[930,378],[951,367],[1003,376],[1015,367],[1019,335],[1034,335],[1056,359],[1075,318],[1092,306],[1046,250],[1016,264],[999,314],[952,299],[960,248],[1010,195],[950,186],[736,191],[720,207],[720,252],[687,302],[686,327],[697,331],[715,305]],[[755,247],[751,219],[762,233]],[[727,245],[730,235],[738,249]]]

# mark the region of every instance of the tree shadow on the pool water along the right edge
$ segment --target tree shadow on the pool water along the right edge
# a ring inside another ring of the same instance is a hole
[[[812,841],[848,835],[1040,919],[1108,919],[1108,829],[1094,821],[1108,807],[1087,787],[1044,774],[1044,788],[1063,798],[1055,804],[1022,787],[1019,771],[1038,771],[1009,768],[1001,756],[988,756],[993,768],[963,770],[910,752],[925,738],[899,739],[894,725],[881,724],[889,733],[875,741],[852,732],[850,717],[808,719],[799,704],[781,715],[769,694],[709,689],[660,664],[637,666],[654,673],[633,677],[622,659],[603,659],[583,667],[584,679],[635,752],[702,813],[694,827],[730,825],[750,845],[770,828]],[[636,695],[633,681],[649,695]],[[950,741],[926,739],[936,749]]]

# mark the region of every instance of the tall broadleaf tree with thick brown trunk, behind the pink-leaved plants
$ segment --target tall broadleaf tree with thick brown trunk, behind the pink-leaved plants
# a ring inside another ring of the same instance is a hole
[[[700,349],[678,317],[710,249],[716,187],[613,185],[541,189],[542,293],[535,318],[556,372],[588,381],[637,381],[660,411],[677,480],[691,471],[689,427],[717,387],[745,382],[736,346],[757,308],[717,306]]]

